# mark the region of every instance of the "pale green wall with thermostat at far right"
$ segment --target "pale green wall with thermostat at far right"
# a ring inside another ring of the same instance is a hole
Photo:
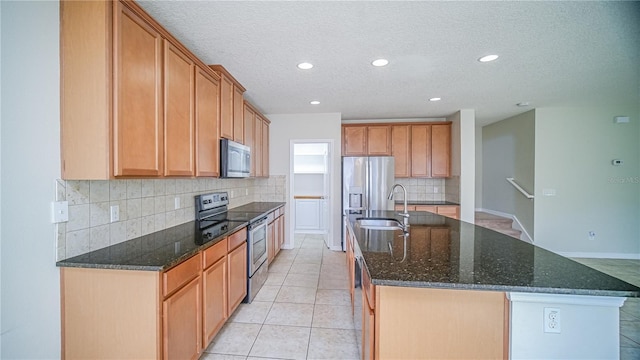
[[[536,244],[568,256],[640,258],[639,107],[536,109]],[[630,123],[614,124],[617,115]]]

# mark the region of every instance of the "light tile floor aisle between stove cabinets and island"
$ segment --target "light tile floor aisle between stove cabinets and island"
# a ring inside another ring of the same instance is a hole
[[[357,359],[346,255],[318,235],[281,250],[251,304],[241,304],[201,360]]]

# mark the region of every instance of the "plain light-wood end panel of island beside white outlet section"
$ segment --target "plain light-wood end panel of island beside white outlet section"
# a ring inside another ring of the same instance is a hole
[[[363,320],[370,322],[364,323],[363,331],[369,331],[365,335],[374,328],[370,351],[375,359],[509,356],[503,292],[395,286],[375,286],[375,292],[373,318]]]

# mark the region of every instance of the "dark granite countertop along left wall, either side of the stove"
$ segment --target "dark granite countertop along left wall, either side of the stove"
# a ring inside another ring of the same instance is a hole
[[[242,207],[275,210],[285,203],[253,202]],[[232,209],[236,210],[238,208]],[[249,211],[249,210],[242,210]],[[203,242],[195,221],[91,251],[56,263],[59,267],[164,271],[221,241],[247,222],[229,221],[227,232]]]

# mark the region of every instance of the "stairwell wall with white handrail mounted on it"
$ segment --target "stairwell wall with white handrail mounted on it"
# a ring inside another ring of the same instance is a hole
[[[535,121],[536,112],[530,110],[482,128],[483,208],[515,216],[531,237],[534,200],[527,199],[506,178],[515,178],[533,193]]]

